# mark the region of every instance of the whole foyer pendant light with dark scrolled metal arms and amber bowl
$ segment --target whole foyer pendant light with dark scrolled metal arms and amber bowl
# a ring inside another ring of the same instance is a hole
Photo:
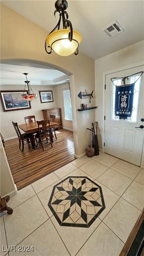
[[[60,17],[57,25],[45,41],[45,50],[48,54],[51,54],[52,50],[61,56],[68,56],[72,53],[78,54],[78,47],[82,41],[82,36],[79,32],[73,30],[72,24],[68,20],[68,14],[65,11],[67,7],[68,3],[66,0],[57,0],[55,2],[56,10],[54,11],[54,16],[58,12]],[[61,18],[63,29],[60,29]],[[47,48],[50,48],[50,51]]]

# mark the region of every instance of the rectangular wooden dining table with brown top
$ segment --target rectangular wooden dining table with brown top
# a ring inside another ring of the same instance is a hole
[[[52,128],[55,127],[57,125],[57,123],[50,121],[50,133],[51,133],[51,140],[53,143],[53,132],[52,132]],[[32,145],[32,148],[35,148],[35,137],[33,135],[33,133],[38,132],[38,124],[37,122],[32,122],[32,123],[25,123],[25,124],[19,124],[18,127],[25,132],[26,134],[31,133],[30,135],[30,142]],[[40,125],[40,128],[42,127],[42,125]],[[47,124],[47,127],[49,128],[49,124]]]

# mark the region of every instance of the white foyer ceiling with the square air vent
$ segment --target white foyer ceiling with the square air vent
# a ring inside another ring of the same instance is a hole
[[[50,32],[58,22],[54,17],[55,1],[3,0],[16,12]],[[118,51],[144,40],[144,1],[131,0],[69,0],[68,15],[73,29],[78,30],[83,41],[79,50],[93,59]],[[101,30],[117,20],[124,32],[109,38]]]

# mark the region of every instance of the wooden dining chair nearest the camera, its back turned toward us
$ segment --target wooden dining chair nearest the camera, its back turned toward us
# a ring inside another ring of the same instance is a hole
[[[47,143],[48,143],[48,140],[50,140],[50,143],[52,146],[51,133],[50,133],[50,120],[37,121],[37,124],[38,124],[39,132],[35,135],[35,140],[36,140],[36,143],[37,143],[37,139],[40,140],[42,149],[44,151],[44,147],[42,144],[44,139],[46,139]],[[47,131],[47,124],[49,124],[49,132]],[[42,127],[40,127],[40,125],[42,125]],[[37,145],[38,145],[38,143],[37,143]]]

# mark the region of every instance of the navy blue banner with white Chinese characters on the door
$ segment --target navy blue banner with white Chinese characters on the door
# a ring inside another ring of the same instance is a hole
[[[133,110],[134,97],[133,84],[116,86],[115,92],[115,117],[119,119],[130,119]]]

